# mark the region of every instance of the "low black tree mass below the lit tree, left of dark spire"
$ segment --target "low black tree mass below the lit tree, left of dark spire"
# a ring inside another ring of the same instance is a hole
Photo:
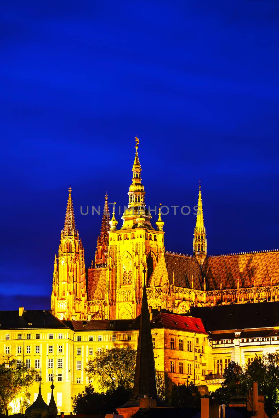
[[[86,386],[82,393],[73,399],[73,411],[77,415],[111,414],[130,398],[131,392],[119,386],[107,393],[97,393],[94,387]]]

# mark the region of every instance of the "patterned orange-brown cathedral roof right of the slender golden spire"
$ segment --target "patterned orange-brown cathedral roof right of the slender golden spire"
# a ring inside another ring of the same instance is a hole
[[[279,285],[279,251],[261,251],[207,257],[202,265],[206,289]]]

